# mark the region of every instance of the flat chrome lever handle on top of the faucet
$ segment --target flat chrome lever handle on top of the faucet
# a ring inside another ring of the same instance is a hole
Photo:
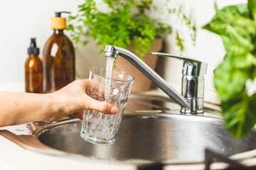
[[[185,75],[201,77],[206,74],[206,70],[207,70],[206,62],[193,60],[188,57],[180,57],[180,56],[176,56],[176,55],[170,55],[170,54],[162,53],[162,52],[150,52],[150,53],[152,55],[158,55],[158,56],[163,56],[163,57],[172,57],[172,58],[181,60],[181,62],[183,62],[183,72],[182,73]]]

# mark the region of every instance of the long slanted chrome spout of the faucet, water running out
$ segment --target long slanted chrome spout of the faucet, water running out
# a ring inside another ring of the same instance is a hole
[[[130,52],[129,50],[125,50],[122,47],[116,47],[112,45],[105,46],[105,57],[114,57],[117,58],[117,55],[123,57],[125,60],[134,65],[137,69],[139,69],[142,74],[144,74],[147,78],[159,86],[159,88],[164,91],[170,98],[172,98],[178,105],[183,108],[189,108],[190,103],[181,96],[172,86],[170,86],[162,77],[159,76],[153,69],[151,69],[146,63],[144,63],[137,55]]]

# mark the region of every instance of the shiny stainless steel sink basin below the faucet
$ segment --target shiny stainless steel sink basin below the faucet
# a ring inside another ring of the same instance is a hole
[[[63,152],[117,161],[203,162],[206,148],[227,157],[256,149],[256,130],[242,140],[235,140],[225,130],[223,120],[213,118],[213,113],[208,114],[211,117],[207,113],[180,115],[179,106],[159,98],[129,101],[114,145],[85,142],[80,137],[78,119],[39,128],[36,137],[48,147]]]

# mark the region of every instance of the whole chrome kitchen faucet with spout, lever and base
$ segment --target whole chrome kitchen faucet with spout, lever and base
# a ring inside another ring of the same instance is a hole
[[[119,55],[134,65],[147,78],[154,82],[159,88],[181,106],[181,113],[198,114],[203,113],[203,94],[204,94],[204,78],[206,74],[207,63],[186,57],[178,57],[161,52],[151,52],[153,55],[164,57],[173,57],[183,62],[182,89],[179,94],[172,86],[170,86],[162,77],[153,69],[144,63],[137,55],[125,50],[122,47],[112,45],[105,46],[105,57],[114,57]]]

